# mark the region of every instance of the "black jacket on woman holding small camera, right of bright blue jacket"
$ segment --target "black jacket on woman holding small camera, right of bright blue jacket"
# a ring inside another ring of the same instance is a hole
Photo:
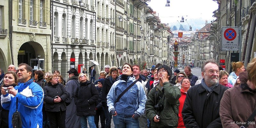
[[[65,100],[68,97],[68,92],[64,88],[63,84],[58,83],[58,84],[52,85],[52,83],[46,83],[43,90],[44,90],[45,111],[59,112],[60,110],[61,111],[67,110]],[[59,96],[61,101],[58,103],[54,103],[55,96]]]

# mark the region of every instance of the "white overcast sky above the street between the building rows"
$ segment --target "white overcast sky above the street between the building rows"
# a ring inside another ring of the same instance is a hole
[[[202,18],[215,20],[213,11],[218,9],[218,4],[212,0],[170,0],[170,7],[165,7],[166,0],[151,0],[148,2],[153,11],[159,14],[162,23],[170,23],[184,19]]]

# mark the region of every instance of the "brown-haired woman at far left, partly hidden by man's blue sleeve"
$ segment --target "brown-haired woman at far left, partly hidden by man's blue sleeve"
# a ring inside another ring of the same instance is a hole
[[[2,86],[1,86],[1,93],[2,95],[6,95],[6,91],[4,91],[4,88],[7,88],[9,86],[13,86],[15,87],[18,83],[18,78],[17,78],[17,74],[13,71],[8,71],[7,73],[5,73],[4,75],[4,82],[2,83]],[[9,94],[7,94],[9,95]],[[1,99],[1,97],[0,97]],[[11,120],[10,122],[8,123],[8,119],[9,119],[9,110],[6,110],[4,108],[2,108],[2,105],[0,106],[0,117],[2,118],[1,119],[1,123],[0,123],[0,127],[1,128],[8,128],[9,126],[9,123],[11,124]]]

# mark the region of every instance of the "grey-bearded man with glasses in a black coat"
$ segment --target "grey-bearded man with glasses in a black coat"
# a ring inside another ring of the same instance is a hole
[[[222,128],[220,100],[228,87],[219,84],[219,67],[215,60],[202,66],[202,83],[192,86],[182,109],[183,122],[188,128]]]

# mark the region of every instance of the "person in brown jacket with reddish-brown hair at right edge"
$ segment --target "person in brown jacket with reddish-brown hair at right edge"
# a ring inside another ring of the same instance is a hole
[[[247,64],[247,71],[239,74],[240,85],[229,88],[220,100],[223,128],[255,128],[255,117],[251,121],[247,120],[255,112],[256,58]]]

